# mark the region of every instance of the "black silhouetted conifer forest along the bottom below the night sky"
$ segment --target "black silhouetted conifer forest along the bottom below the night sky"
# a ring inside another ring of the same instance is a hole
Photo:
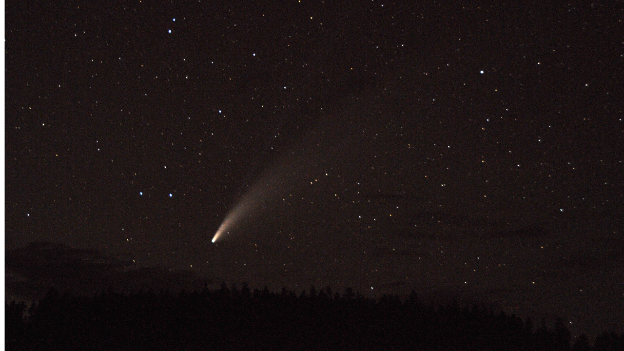
[[[301,294],[220,289],[92,296],[51,289],[30,307],[5,302],[6,350],[624,350],[624,334],[590,347],[550,328],[479,305],[424,304],[346,289]]]

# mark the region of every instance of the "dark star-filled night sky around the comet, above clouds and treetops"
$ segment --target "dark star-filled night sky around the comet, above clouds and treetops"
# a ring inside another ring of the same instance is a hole
[[[617,4],[7,2],[6,249],[622,332]]]

